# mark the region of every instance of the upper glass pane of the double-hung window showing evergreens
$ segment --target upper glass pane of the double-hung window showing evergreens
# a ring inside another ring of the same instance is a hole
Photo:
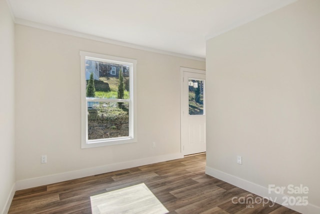
[[[85,60],[86,97],[129,99],[129,69],[127,65]]]

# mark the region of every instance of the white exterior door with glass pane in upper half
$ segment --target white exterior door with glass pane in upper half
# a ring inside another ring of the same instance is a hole
[[[181,152],[205,152],[205,71],[181,68]]]

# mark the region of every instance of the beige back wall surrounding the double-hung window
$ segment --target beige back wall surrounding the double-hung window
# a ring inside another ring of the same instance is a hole
[[[180,66],[204,62],[20,25],[15,37],[17,181],[180,153]],[[137,143],[80,148],[80,50],[137,60]]]

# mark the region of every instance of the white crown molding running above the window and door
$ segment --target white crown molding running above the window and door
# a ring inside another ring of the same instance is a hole
[[[134,45],[131,43],[125,43],[125,42],[121,42],[121,41],[117,41],[117,40],[111,40],[111,39],[98,37],[98,36],[94,36],[94,35],[89,35],[89,34],[84,34],[84,33],[76,32],[76,31],[70,31],[70,30],[66,30],[66,29],[62,29],[62,28],[56,28],[56,27],[52,27],[52,26],[48,26],[48,25],[43,25],[40,23],[35,23],[35,22],[31,22],[31,21],[23,20],[23,19],[19,19],[19,18],[15,18],[15,24],[24,25],[24,26],[28,26],[31,28],[37,28],[37,29],[41,29],[41,30],[45,30],[45,31],[51,31],[51,32],[59,33],[59,34],[65,34],[65,35],[69,35],[69,36],[79,37],[79,38],[83,38],[83,39],[89,39],[89,40],[94,40],[94,41],[98,41],[98,42],[109,43],[109,44],[118,45],[118,46],[124,46],[127,48],[134,48],[134,49],[138,49],[138,50],[142,50],[142,51],[149,51],[149,52],[169,55],[169,56],[173,56],[173,57],[180,57],[180,58],[186,58],[186,59],[190,59],[190,60],[197,60],[197,61],[205,62],[205,59],[200,58],[200,57],[194,57],[194,56],[190,56],[190,55],[178,54],[178,53],[173,53],[173,52],[169,52],[169,51],[148,48],[148,47],[144,47],[144,46],[140,46],[140,45]]]

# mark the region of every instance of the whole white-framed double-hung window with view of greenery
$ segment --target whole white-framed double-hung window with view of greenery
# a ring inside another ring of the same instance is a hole
[[[80,59],[81,148],[136,142],[136,60],[83,51]]]

